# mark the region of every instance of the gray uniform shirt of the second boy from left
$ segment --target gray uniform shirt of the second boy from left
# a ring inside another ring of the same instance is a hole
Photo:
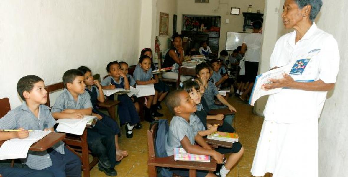
[[[63,93],[61,93],[56,102],[54,103],[51,112],[57,113],[65,109],[87,109],[92,108],[92,102],[90,101],[90,96],[87,91],[79,94],[77,101],[74,100],[71,93],[64,88]]]

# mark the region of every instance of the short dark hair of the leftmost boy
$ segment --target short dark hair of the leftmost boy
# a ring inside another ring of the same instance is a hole
[[[18,80],[17,92],[23,101],[25,101],[23,92],[27,91],[30,93],[34,88],[34,85],[38,83],[39,81],[44,81],[44,80],[42,80],[39,76],[35,76],[35,75],[27,75]]]

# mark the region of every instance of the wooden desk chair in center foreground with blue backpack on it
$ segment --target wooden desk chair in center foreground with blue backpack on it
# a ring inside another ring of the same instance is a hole
[[[216,170],[216,161],[211,159],[210,162],[192,162],[192,161],[174,161],[174,155],[168,157],[156,157],[155,154],[155,137],[158,123],[154,123],[148,130],[149,159],[148,172],[149,177],[157,177],[156,167],[184,168],[190,170],[190,177],[196,176],[196,170]]]

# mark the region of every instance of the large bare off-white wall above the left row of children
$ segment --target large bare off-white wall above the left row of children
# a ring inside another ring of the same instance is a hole
[[[16,84],[38,75],[61,82],[81,65],[106,75],[106,64],[139,58],[138,0],[6,0],[0,3],[0,98],[21,102]]]

